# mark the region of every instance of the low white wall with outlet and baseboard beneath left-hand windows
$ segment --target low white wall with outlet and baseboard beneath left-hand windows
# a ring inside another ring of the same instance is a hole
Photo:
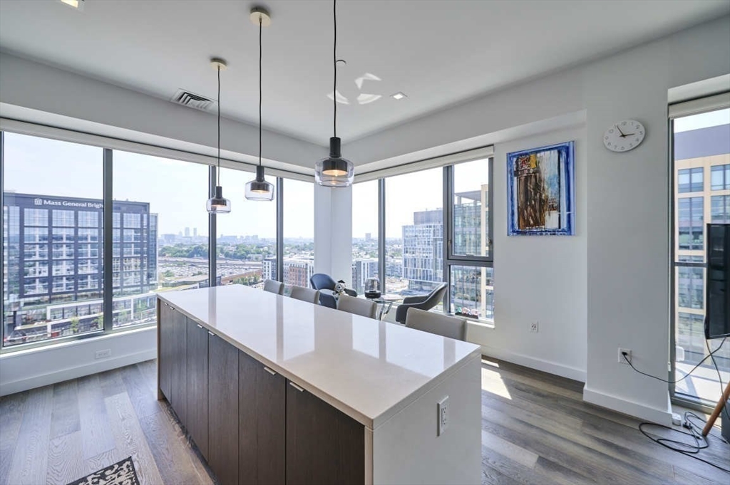
[[[99,350],[110,357],[96,360]],[[0,396],[157,357],[157,328],[85,338],[0,356]]]

